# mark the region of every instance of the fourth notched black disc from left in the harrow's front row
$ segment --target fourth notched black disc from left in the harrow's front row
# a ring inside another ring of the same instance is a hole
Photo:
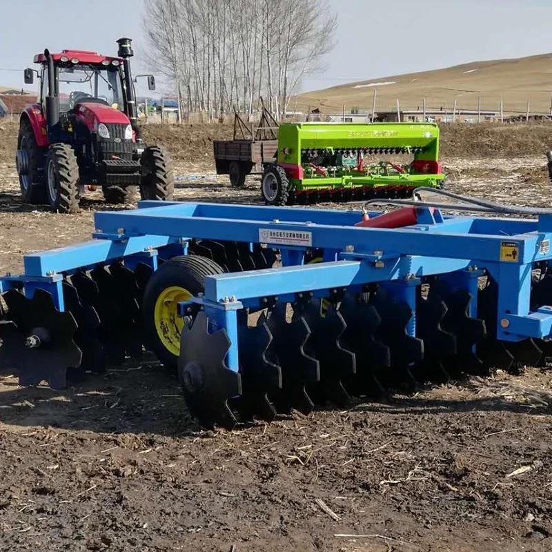
[[[344,318],[333,304],[323,311],[321,299],[312,299],[300,313],[311,328],[308,345],[320,368],[320,382],[309,385],[308,394],[315,402],[329,401],[337,406],[346,406],[351,402],[351,397],[345,391],[342,380],[355,375],[356,357],[344,346],[342,337],[347,327]]]

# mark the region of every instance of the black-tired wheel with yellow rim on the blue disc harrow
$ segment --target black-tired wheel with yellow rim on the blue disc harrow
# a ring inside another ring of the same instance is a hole
[[[167,371],[177,373],[180,335],[185,321],[177,305],[204,291],[206,276],[222,274],[213,260],[199,255],[172,257],[152,275],[144,292],[144,329],[148,346]]]

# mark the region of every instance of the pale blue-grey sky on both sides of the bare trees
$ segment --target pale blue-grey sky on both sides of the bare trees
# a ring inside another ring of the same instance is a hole
[[[326,71],[306,80],[304,90],[552,51],[551,0],[331,3],[339,14],[338,43]],[[141,0],[0,0],[0,85],[23,86],[22,74],[6,69],[31,66],[45,47],[115,54],[123,36],[135,40],[138,72],[141,12]]]

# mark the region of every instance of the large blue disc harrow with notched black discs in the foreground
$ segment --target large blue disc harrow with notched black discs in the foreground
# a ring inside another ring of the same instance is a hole
[[[96,213],[92,241],[30,253],[0,279],[0,367],[61,388],[149,349],[201,424],[232,427],[538,366],[552,353],[552,210],[437,192],[455,210],[531,217],[412,199],[388,213]]]

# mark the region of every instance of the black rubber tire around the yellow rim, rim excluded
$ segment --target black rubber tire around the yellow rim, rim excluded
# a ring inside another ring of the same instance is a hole
[[[172,354],[161,342],[155,327],[155,304],[161,292],[172,286],[188,290],[192,295],[204,292],[206,276],[224,274],[224,270],[207,257],[184,255],[172,257],[153,273],[144,292],[144,330],[146,345],[172,375],[177,373],[178,357]]]

